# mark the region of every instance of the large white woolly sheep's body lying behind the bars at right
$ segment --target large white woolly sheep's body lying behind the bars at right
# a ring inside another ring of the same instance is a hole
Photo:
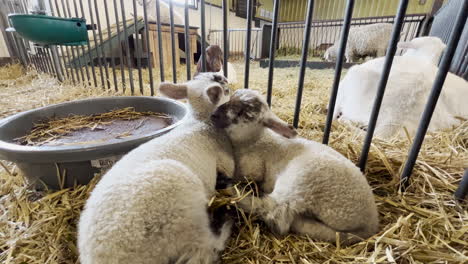
[[[366,127],[377,93],[385,58],[351,67],[340,82],[334,119]],[[376,124],[381,138],[416,133],[438,68],[433,60],[415,56],[395,56]],[[432,116],[429,131],[450,128],[468,118],[468,83],[448,73]]]

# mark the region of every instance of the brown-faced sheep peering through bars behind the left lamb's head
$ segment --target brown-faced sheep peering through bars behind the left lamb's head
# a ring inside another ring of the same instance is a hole
[[[223,50],[218,45],[210,45],[206,48],[206,71],[207,72],[218,72],[221,75],[224,75],[223,65],[224,65],[224,56]],[[237,83],[237,73],[231,63],[228,65],[228,82],[229,84]],[[202,72],[202,59],[200,58],[197,63],[197,71],[194,76]]]

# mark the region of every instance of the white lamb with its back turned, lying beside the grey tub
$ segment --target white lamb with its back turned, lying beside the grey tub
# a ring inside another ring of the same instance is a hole
[[[209,122],[229,98],[227,80],[204,73],[160,92],[188,99],[191,116],[170,133],[129,152],[92,191],[78,226],[83,264],[213,263],[230,236],[207,212],[216,173],[234,174],[229,138]]]

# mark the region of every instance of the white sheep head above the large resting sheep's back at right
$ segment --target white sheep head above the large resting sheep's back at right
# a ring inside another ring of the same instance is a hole
[[[446,47],[447,45],[438,37],[419,37],[398,43],[398,48],[406,50],[403,56],[424,58],[436,66],[439,64],[440,56]]]

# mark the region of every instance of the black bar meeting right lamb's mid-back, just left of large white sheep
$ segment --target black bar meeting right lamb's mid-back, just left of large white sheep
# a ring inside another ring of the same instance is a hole
[[[344,54],[346,50],[346,43],[348,41],[349,28],[351,27],[351,19],[354,8],[354,0],[348,0],[346,4],[346,14],[343,22],[343,29],[341,30],[340,47],[338,49],[338,56],[336,58],[335,78],[333,79],[333,86],[328,102],[327,121],[325,123],[325,131],[323,133],[323,144],[328,144],[330,138],[331,125],[333,121],[333,112],[335,111],[336,96],[338,95],[338,85],[340,83],[341,70],[343,68]]]

